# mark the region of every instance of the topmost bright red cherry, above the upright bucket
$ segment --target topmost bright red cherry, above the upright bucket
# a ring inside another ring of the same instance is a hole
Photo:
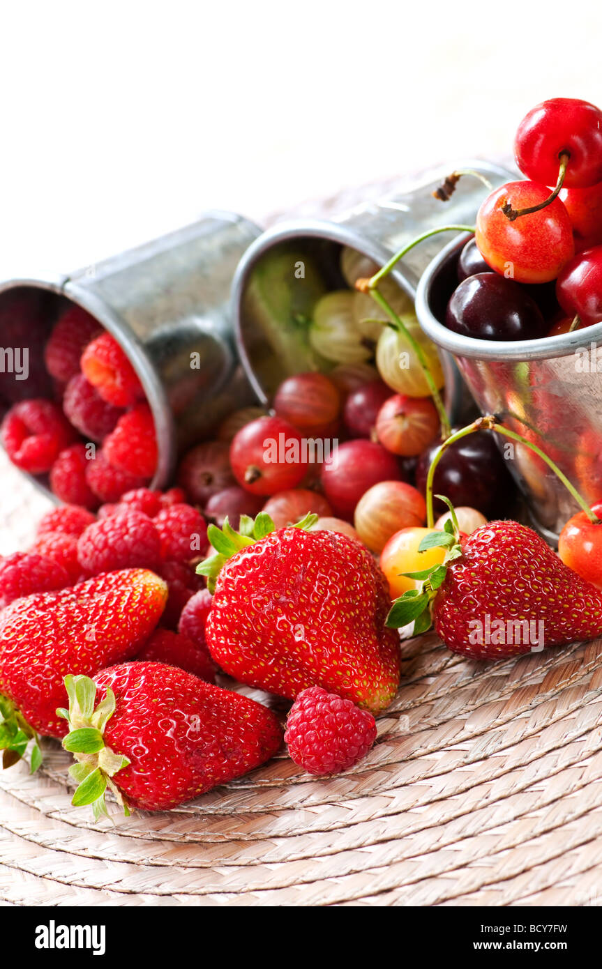
[[[602,111],[577,98],[552,98],[531,109],[514,143],[517,165],[528,178],[555,185],[559,158],[568,154],[565,188],[602,181]]]

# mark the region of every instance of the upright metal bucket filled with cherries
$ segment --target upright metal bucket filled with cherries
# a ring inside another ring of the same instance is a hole
[[[452,332],[441,321],[467,238],[448,243],[423,274],[416,294],[422,328],[454,355],[483,414],[495,414],[552,457],[589,504],[602,499],[602,323],[539,340],[477,340]],[[577,511],[575,502],[528,448],[504,448],[501,438],[498,444],[534,524],[554,543]]]

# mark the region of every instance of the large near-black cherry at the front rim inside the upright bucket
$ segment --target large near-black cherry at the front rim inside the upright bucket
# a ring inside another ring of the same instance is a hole
[[[459,283],[445,325],[480,340],[533,340],[550,328],[523,287],[495,272],[479,272]]]

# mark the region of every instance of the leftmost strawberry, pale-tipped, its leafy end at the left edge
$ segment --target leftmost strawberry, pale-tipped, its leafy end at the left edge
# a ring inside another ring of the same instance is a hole
[[[67,727],[56,715],[66,700],[63,677],[70,670],[95,673],[135,656],[161,618],[166,598],[163,579],[129,569],[17,599],[0,613],[5,718],[12,705],[13,723],[22,727],[24,718],[29,736],[65,735]],[[0,724],[0,731],[0,747],[11,748],[10,726]]]

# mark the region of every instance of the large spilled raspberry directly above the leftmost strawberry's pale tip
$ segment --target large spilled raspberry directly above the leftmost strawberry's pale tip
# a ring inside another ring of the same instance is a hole
[[[78,558],[89,576],[117,569],[152,569],[161,558],[161,545],[148,516],[122,512],[88,525],[78,539]]]

